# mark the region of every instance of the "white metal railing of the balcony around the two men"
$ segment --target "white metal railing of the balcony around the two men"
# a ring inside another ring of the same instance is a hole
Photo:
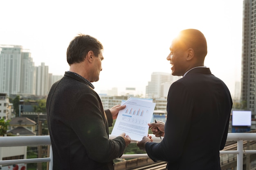
[[[154,142],[160,142],[159,137],[152,135]],[[114,136],[110,135],[110,139]],[[237,155],[237,170],[243,170],[243,154],[253,154],[256,150],[244,150],[243,141],[256,141],[256,133],[229,133],[227,141],[237,141],[237,150],[222,150],[220,154],[236,154]],[[131,141],[136,143],[136,141]],[[52,147],[49,136],[10,136],[0,137],[0,147],[9,146],[40,146],[50,145],[49,157],[46,158],[33,158],[33,159],[13,159],[0,161],[0,165],[18,164],[18,163],[38,163],[38,162],[49,162],[49,170],[52,170],[53,159],[52,159]],[[148,157],[147,154],[128,154],[123,155],[121,158],[139,158]]]

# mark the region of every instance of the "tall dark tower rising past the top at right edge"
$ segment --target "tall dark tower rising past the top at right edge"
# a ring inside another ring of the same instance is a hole
[[[243,1],[241,102],[256,115],[256,0]]]

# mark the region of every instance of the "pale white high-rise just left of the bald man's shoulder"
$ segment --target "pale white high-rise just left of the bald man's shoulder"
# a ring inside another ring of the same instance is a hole
[[[180,76],[172,76],[171,73],[153,72],[151,81],[146,86],[146,98],[167,97],[169,87],[179,78]]]

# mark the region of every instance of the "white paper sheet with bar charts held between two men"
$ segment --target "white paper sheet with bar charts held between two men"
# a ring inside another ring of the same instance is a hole
[[[126,108],[119,111],[111,135],[119,136],[125,132],[132,140],[140,141],[148,135],[148,123],[152,119],[155,103],[152,100],[129,98],[122,105],[126,105]]]

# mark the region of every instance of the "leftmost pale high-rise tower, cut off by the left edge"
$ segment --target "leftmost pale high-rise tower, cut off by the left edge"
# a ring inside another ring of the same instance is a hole
[[[22,46],[0,45],[0,93],[20,92]]]

